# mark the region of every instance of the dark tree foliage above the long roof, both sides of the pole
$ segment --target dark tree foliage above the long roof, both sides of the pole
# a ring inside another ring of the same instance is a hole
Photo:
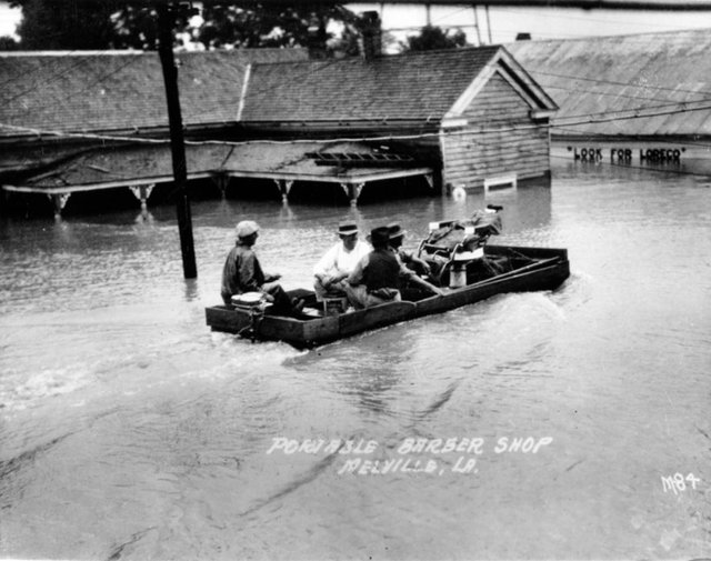
[[[17,32],[24,50],[157,49],[156,10],[130,0],[12,0],[11,6],[22,8]],[[327,52],[347,44],[350,53],[354,40],[333,41],[327,28],[332,21],[348,27],[353,18],[356,14],[334,3],[250,3],[243,8],[206,2],[202,24],[191,27],[189,18],[181,17],[176,32],[188,31],[208,49],[310,47]]]

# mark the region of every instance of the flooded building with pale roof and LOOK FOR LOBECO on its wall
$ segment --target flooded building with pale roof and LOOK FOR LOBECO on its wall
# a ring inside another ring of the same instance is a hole
[[[711,30],[507,48],[560,107],[557,160],[711,173]]]

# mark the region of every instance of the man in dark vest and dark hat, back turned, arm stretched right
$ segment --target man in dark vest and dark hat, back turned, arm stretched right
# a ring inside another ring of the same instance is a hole
[[[361,259],[348,277],[348,299],[354,308],[370,308],[401,300],[400,283],[407,279],[434,293],[443,292],[404,267],[389,248],[388,227],[370,232],[372,252]]]

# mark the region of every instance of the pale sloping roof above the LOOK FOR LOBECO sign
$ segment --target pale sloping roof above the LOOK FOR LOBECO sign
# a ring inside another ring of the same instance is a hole
[[[711,134],[709,29],[507,48],[560,107],[555,136]]]

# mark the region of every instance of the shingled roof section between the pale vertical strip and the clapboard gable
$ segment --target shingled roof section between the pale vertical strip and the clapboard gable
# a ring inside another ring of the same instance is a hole
[[[253,64],[240,117],[244,122],[439,121],[502,58],[511,59],[502,47],[490,46],[373,60]],[[513,72],[525,74],[514,67]],[[545,107],[550,98],[539,101]]]

